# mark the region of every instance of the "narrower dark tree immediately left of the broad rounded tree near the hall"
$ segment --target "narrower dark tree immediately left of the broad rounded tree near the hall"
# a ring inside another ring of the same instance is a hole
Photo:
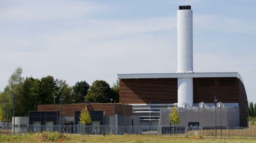
[[[78,81],[73,86],[73,98],[75,103],[84,102],[84,96],[87,95],[90,85],[86,81]]]

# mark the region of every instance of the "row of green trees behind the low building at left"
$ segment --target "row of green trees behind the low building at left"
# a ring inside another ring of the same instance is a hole
[[[7,102],[9,101],[9,120],[13,116],[13,95],[15,94],[15,116],[28,116],[29,111],[37,111],[38,104],[63,104],[93,102],[119,102],[119,81],[112,87],[104,80],[96,80],[89,85],[86,81],[77,81],[74,86],[65,80],[54,79],[53,76],[22,77],[22,68],[18,67],[9,77],[8,84],[0,92],[1,118],[7,120]]]

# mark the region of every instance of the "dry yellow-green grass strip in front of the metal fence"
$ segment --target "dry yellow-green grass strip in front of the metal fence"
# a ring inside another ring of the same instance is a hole
[[[161,135],[61,135],[57,132],[31,135],[1,135],[0,143],[256,143],[246,137],[169,137]]]

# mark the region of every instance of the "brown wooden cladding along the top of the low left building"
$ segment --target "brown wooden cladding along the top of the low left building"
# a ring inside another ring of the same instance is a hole
[[[62,104],[62,116],[74,116],[75,111],[81,111],[87,104]],[[115,110],[114,110],[115,109]],[[38,111],[60,111],[60,105],[38,105]],[[105,111],[105,115],[132,115],[132,106],[125,104],[89,104],[89,111]]]

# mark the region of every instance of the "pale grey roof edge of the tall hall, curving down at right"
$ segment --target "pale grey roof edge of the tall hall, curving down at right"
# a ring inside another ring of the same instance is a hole
[[[135,73],[117,74],[118,79],[165,79],[165,78],[224,78],[236,77],[243,80],[239,73]],[[244,83],[243,83],[244,84]]]

